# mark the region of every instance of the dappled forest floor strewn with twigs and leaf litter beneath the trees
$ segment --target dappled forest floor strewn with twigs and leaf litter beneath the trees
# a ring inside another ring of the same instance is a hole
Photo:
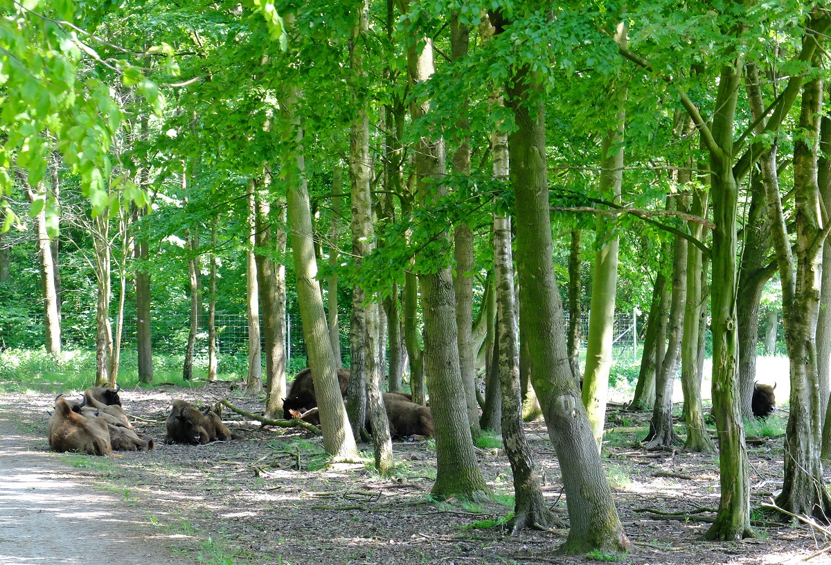
[[[19,499],[19,504],[28,506],[18,504],[13,516],[0,505],[0,512],[6,514],[0,516],[0,564],[81,563],[55,561],[49,553],[55,551],[55,543],[37,546],[32,541],[32,552],[39,548],[42,555],[32,553],[17,560],[2,545],[6,538],[21,537],[5,529],[21,517],[34,521],[31,528],[37,532],[37,517],[46,519],[50,514],[39,507],[44,496],[57,501],[58,494],[73,499],[78,493],[83,500],[88,500],[83,493],[102,500],[106,515],[120,517],[106,519],[106,538],[132,540],[120,547],[137,546],[146,557],[141,563],[154,565],[589,561],[586,556],[557,553],[568,535],[568,513],[557,459],[542,423],[529,424],[526,430],[542,471],[543,493],[561,525],[511,536],[494,525],[512,504],[511,472],[503,450],[477,450],[493,497],[438,502],[429,496],[435,479],[431,441],[396,442],[396,476],[381,479],[368,463],[327,467],[320,437],[306,430],[262,428],[227,409],[223,420],[240,439],[199,446],[165,445],[166,410],[172,398],[197,404],[228,398],[234,405],[258,410],[255,397],[231,391],[226,382],[190,390],[162,386],[152,391],[122,391],[120,396],[135,427],[157,440],[154,451],[128,452],[120,458],[49,453],[47,409],[54,395],[0,396],[0,433],[6,438],[11,430],[16,436],[12,444],[0,444],[0,470],[9,476],[52,474],[50,479],[57,481],[40,499]],[[752,516],[759,537],[740,543],[701,541],[706,520],[715,516],[706,509],[719,504],[718,457],[642,450],[637,440],[642,439],[640,426],[647,420],[645,413],[613,406],[607,419],[614,430],[607,433],[604,463],[624,528],[636,544],[623,563],[799,563],[829,547],[831,541],[810,528],[774,521],[760,511],[760,505],[781,488],[782,437],[750,448]],[[14,453],[7,452],[12,448]],[[362,449],[367,455],[371,452],[368,445]],[[66,492],[59,492],[60,484]],[[2,499],[7,499],[5,489],[0,489]],[[687,514],[654,519],[658,517],[643,508]],[[42,537],[62,536],[58,548],[73,543],[87,549],[95,546],[95,539],[84,538],[77,530],[77,516],[69,513],[64,519],[62,531],[52,524],[52,529],[42,531]],[[107,548],[105,554],[113,551],[118,546]],[[808,563],[831,563],[828,556],[816,555]],[[134,563],[126,554],[95,562]]]

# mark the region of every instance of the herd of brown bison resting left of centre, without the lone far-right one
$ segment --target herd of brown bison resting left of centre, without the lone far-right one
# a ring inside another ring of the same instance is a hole
[[[337,371],[342,396],[346,396],[350,372]],[[133,429],[121,407],[120,389],[91,386],[80,399],[60,395],[49,418],[49,447],[91,455],[112,455],[114,451],[146,451],[155,447],[153,438]],[[393,437],[433,435],[430,408],[411,401],[406,394],[385,392],[384,404]],[[297,374],[288,398],[283,400],[284,417],[302,418],[319,425],[312,371]],[[367,427],[368,427],[367,421]],[[199,445],[230,440],[230,430],[214,411],[199,410],[184,400],[174,400],[165,422],[165,443]]]

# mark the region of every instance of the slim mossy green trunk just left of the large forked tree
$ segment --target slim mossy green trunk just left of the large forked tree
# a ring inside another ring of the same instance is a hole
[[[690,213],[700,218],[707,214],[706,189],[694,188]],[[704,226],[688,222],[687,227],[692,237],[701,241]],[[711,453],[713,443],[704,424],[704,411],[701,409],[701,372],[698,370],[698,336],[706,310],[701,309],[701,301],[706,298],[701,292],[702,279],[701,250],[695,245],[688,245],[686,251],[686,307],[684,309],[684,335],[681,338],[681,387],[684,391],[684,418],[686,421],[686,441],[684,449],[698,453]]]

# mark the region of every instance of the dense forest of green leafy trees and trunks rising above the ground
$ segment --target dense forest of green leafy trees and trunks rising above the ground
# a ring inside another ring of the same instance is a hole
[[[828,543],[823,2],[0,6],[4,392],[196,391],[380,478],[406,436],[436,501],[494,441],[506,535],[601,560],[645,541],[611,460],[690,454],[696,539]]]

